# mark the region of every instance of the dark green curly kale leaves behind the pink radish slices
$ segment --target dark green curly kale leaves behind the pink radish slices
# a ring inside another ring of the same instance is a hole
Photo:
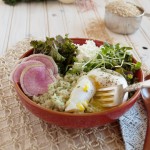
[[[60,35],[56,38],[46,37],[46,41],[31,41],[30,44],[34,48],[34,54],[42,53],[52,56],[60,74],[64,75],[75,61],[77,46],[68,38],[68,35],[64,38]]]

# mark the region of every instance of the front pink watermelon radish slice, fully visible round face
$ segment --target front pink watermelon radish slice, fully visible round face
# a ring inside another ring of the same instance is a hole
[[[55,81],[55,77],[46,66],[33,64],[26,67],[20,77],[20,85],[28,96],[37,96],[48,91],[48,85]]]

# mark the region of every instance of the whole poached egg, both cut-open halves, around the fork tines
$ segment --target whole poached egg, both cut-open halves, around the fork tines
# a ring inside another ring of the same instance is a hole
[[[98,88],[120,84],[123,85],[123,88],[128,86],[126,79],[121,74],[108,69],[93,69],[87,75],[79,78],[77,85],[72,90],[70,98],[66,103],[65,111],[84,112]],[[128,93],[124,95],[123,101],[127,99]]]

